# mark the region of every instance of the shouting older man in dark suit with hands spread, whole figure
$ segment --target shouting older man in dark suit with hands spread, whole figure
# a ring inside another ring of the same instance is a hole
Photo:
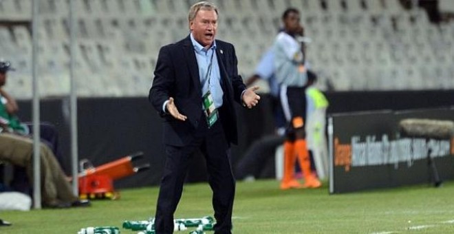
[[[252,108],[258,87],[246,89],[235,48],[215,40],[218,10],[202,1],[188,14],[191,34],[161,48],[149,100],[164,118],[166,162],[155,215],[156,233],[173,232],[188,160],[200,149],[213,190],[215,233],[231,233],[235,178],[230,144],[237,143],[234,100]]]

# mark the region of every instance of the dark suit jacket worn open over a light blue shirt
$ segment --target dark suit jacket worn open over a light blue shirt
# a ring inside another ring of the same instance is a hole
[[[233,101],[241,103],[241,93],[246,89],[237,70],[237,56],[232,44],[216,40],[216,55],[224,91],[219,116],[226,139],[237,144],[237,116]],[[161,48],[154,72],[149,100],[164,118],[164,143],[184,146],[193,139],[195,129],[202,119],[202,87],[199,68],[190,36]],[[181,114],[188,118],[181,121],[162,111],[162,105],[173,97]],[[204,117],[203,117],[204,118]]]

